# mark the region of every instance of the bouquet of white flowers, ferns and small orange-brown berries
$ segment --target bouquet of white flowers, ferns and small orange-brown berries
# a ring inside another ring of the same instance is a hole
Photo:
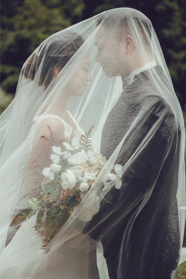
[[[98,195],[87,197],[87,193],[107,160],[102,154],[92,151],[90,133],[93,127],[82,135],[80,140],[77,139],[73,130],[67,139],[61,141],[60,146],[52,146],[51,164],[43,169],[42,191],[39,197],[29,200],[31,206],[29,213],[22,213],[22,216],[17,217],[23,221],[37,214],[33,228],[39,232],[44,212],[46,212],[46,245],[55,236],[57,227],[65,224],[82,200],[87,210],[86,214],[80,215],[79,219],[89,221],[99,210]],[[42,137],[50,141],[53,139],[52,142],[56,144],[52,130],[48,128],[51,132],[50,138]],[[107,181],[115,180],[116,188],[121,186],[121,168],[121,165],[113,166],[107,176]],[[16,221],[19,221],[18,219]]]

